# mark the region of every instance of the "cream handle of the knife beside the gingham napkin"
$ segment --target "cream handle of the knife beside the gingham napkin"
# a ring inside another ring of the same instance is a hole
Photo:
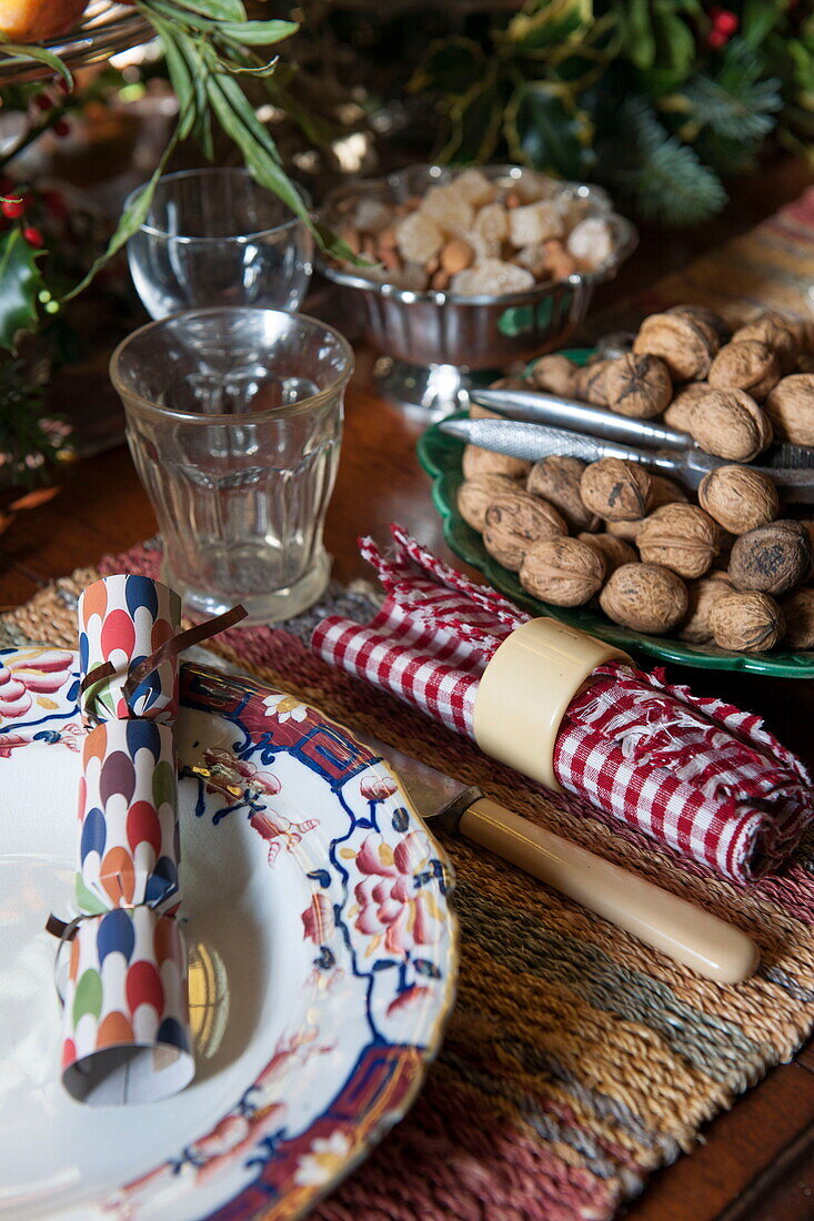
[[[458,830],[560,894],[708,979],[736,984],[759,962],[754,941],[717,916],[480,797]]]

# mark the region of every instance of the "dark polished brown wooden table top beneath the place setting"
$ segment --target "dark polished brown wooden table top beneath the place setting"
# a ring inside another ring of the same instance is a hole
[[[785,162],[741,188],[730,219],[703,232],[666,241],[645,234],[638,255],[605,300],[620,287],[644,287],[681,266],[727,233],[748,227],[796,198],[810,172]],[[446,554],[428,479],[414,454],[422,425],[370,389],[372,355],[361,352],[347,398],[347,426],[326,541],[335,575],[363,576],[356,537],[385,537],[400,521],[429,547]],[[155,518],[122,447],[66,470],[56,495],[35,503],[6,497],[0,514],[0,606],[18,606],[49,580],[123,551],[155,532]],[[13,507],[16,504],[16,507]],[[457,562],[457,560],[456,560]],[[814,684],[670,672],[697,691],[716,692],[765,716],[769,726],[814,762],[809,724]],[[704,1132],[691,1156],[661,1171],[628,1212],[636,1221],[803,1221],[814,1216],[814,1042],[790,1065],[771,1072],[728,1114]]]

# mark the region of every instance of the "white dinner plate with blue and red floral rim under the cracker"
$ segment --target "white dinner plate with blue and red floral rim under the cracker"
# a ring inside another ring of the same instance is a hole
[[[457,962],[449,863],[350,733],[186,665],[196,1078],[149,1105],[72,1101],[44,923],[71,910],[77,673],[71,652],[0,651],[0,1216],[301,1216],[403,1116],[439,1049]]]

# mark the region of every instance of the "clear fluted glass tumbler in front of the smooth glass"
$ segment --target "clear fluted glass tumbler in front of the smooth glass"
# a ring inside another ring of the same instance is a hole
[[[242,602],[248,623],[324,591],[347,341],[301,314],[188,310],[134,331],[112,383],[164,537],[163,579],[193,618]]]

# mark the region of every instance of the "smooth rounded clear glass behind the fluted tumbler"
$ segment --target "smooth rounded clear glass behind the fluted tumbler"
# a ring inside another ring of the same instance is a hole
[[[296,310],[313,252],[308,226],[247,170],[159,178],[144,222],[127,243],[136,291],[155,319],[208,305]]]

